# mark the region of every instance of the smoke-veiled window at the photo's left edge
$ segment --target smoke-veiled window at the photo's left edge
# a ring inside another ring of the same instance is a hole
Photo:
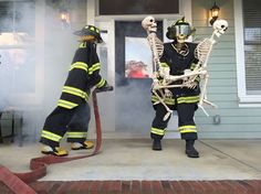
[[[34,10],[34,1],[0,1],[0,108],[35,94]]]

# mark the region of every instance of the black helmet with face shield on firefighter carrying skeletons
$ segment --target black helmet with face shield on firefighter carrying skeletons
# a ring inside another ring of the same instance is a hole
[[[173,25],[168,26],[166,36],[170,40],[177,40],[177,37],[181,36],[184,39],[188,39],[195,29],[192,30],[190,24],[185,21],[185,18],[176,21]]]

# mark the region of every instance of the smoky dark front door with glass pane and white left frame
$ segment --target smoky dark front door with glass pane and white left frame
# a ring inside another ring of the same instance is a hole
[[[150,103],[152,79],[146,74],[134,77],[128,74],[128,67],[132,65],[146,68],[153,66],[152,51],[146,40],[147,33],[140,23],[142,20],[114,19],[95,22],[102,30],[105,41],[105,44],[97,47],[102,64],[101,73],[111,85],[114,85],[114,91],[98,96],[105,138],[106,134],[108,138],[134,138],[143,134],[149,138],[155,114]],[[164,40],[163,34],[167,22],[158,21],[157,23],[157,36]],[[147,51],[144,51],[144,45],[148,46]],[[146,57],[149,57],[150,62],[147,62]],[[175,123],[170,121],[169,127],[176,126],[176,121],[174,119],[173,121]],[[176,131],[176,127],[174,130]]]

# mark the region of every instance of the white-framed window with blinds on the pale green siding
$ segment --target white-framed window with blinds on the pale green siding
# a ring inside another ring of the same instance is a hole
[[[234,0],[239,99],[261,106],[261,2],[240,2]]]

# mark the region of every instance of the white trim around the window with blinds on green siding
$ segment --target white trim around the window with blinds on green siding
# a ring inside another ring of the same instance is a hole
[[[261,107],[261,95],[247,94],[242,0],[233,0],[233,4],[239,107]]]

